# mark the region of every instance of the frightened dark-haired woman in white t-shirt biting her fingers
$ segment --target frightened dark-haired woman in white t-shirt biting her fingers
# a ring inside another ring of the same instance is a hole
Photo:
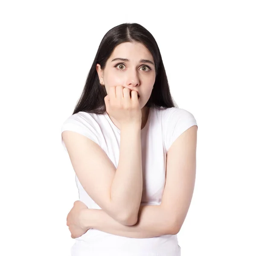
[[[67,215],[72,256],[179,256],[197,123],[175,106],[148,30],[124,23],[105,34],[61,133],[80,200]]]

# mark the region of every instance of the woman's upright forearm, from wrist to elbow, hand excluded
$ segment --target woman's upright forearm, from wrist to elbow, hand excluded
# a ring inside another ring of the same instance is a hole
[[[121,129],[119,163],[111,185],[111,202],[123,216],[136,216],[139,211],[142,189],[141,137],[138,124]]]

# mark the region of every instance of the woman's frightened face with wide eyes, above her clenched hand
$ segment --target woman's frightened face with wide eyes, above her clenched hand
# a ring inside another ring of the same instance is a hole
[[[108,58],[105,69],[101,70],[97,64],[96,70],[99,81],[105,85],[107,93],[110,87],[122,85],[137,91],[140,95],[141,108],[148,102],[155,82],[155,67],[151,52],[143,44],[119,44]]]

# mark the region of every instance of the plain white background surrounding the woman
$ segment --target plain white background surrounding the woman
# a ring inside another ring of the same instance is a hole
[[[198,122],[182,256],[256,255],[255,1],[1,1],[0,255],[69,256],[79,200],[61,145],[99,43],[140,23],[171,94]]]

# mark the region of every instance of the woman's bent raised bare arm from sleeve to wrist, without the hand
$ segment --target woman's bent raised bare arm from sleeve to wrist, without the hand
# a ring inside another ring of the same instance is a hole
[[[117,169],[94,141],[63,131],[74,171],[87,194],[113,219],[124,225],[137,222],[143,189],[139,124],[121,129]]]

